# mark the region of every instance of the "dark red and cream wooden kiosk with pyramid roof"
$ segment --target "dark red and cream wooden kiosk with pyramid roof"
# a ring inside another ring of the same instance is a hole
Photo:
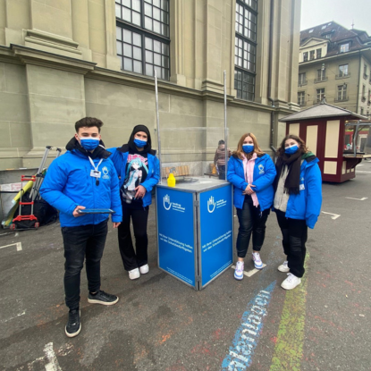
[[[323,181],[355,178],[355,167],[371,157],[371,122],[366,116],[327,103],[282,117],[286,134],[303,139],[318,157]]]

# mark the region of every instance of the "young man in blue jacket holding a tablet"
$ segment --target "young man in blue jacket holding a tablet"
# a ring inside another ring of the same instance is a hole
[[[85,117],[75,123],[76,134],[67,152],[49,166],[40,193],[59,210],[64,245],[65,303],[70,309],[65,333],[77,336],[80,323],[80,273],[86,258],[89,303],[114,305],[119,298],[100,290],[100,260],[105,249],[109,214],[81,214],[85,208],[113,209],[112,221],[122,221],[119,182],[110,152],[101,141],[103,122]]]

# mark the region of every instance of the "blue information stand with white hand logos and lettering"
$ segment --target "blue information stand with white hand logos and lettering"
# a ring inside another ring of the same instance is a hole
[[[202,290],[232,266],[232,185],[196,179],[156,186],[158,266]]]

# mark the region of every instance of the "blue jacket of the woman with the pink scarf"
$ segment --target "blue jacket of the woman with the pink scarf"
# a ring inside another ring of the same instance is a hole
[[[255,192],[257,193],[257,200],[259,201],[260,210],[272,207],[274,200],[274,189],[272,183],[275,178],[275,166],[270,156],[263,155],[257,157],[254,166],[254,175],[252,185],[255,185]],[[233,203],[237,208],[243,207],[245,195],[242,191],[248,186],[245,181],[243,171],[243,163],[240,158],[232,156],[228,161],[227,180],[233,184]]]

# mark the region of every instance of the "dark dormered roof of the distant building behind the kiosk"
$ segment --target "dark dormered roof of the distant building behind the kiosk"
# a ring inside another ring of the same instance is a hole
[[[330,38],[327,38],[327,35],[331,35]],[[338,55],[339,46],[343,43],[350,42],[349,52],[367,47],[371,43],[366,31],[348,30],[334,21],[300,31],[300,46],[305,46],[312,38],[330,41],[325,56]]]

